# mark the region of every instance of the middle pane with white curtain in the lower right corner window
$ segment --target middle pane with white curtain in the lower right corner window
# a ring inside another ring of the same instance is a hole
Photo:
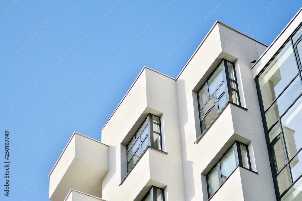
[[[236,159],[234,149],[232,149],[221,159],[221,176],[222,182],[226,180],[226,178],[232,173],[232,171],[236,168]]]

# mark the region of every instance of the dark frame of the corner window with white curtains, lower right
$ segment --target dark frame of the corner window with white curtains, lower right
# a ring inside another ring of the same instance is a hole
[[[248,162],[249,162],[249,168],[245,168],[243,167],[243,162],[242,162],[242,155],[241,155],[241,151],[240,151],[240,145],[243,145],[246,147],[246,152],[247,152],[247,156],[248,156]],[[214,194],[217,192],[217,190],[219,190],[219,188],[221,187],[221,185],[230,177],[230,174],[228,177],[226,177],[225,181],[222,180],[222,173],[221,173],[221,165],[220,162],[221,160],[224,158],[225,155],[227,155],[229,153],[229,151],[231,149],[234,149],[234,153],[235,153],[235,160],[236,160],[236,167],[242,167],[245,169],[249,169],[252,170],[252,165],[251,165],[251,159],[249,156],[249,147],[248,145],[241,143],[239,141],[235,141],[227,150],[226,152],[224,152],[224,154],[221,156],[221,158],[219,159],[219,161],[213,166],[213,168],[211,168],[211,170],[207,173],[206,175],[206,181],[207,181],[207,195],[208,195],[208,199],[210,199],[212,196],[214,196]],[[219,188],[212,194],[210,195],[210,190],[209,190],[209,180],[208,180],[208,176],[210,173],[212,173],[212,171],[218,166],[218,175],[219,175]],[[235,168],[236,169],[236,168]]]

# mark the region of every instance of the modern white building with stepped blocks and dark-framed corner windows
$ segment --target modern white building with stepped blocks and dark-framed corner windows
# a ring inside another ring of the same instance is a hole
[[[301,25],[267,47],[217,21],[176,79],[144,67],[101,142],[73,133],[49,199],[301,201]]]

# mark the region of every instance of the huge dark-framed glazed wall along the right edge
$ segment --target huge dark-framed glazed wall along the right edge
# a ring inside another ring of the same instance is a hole
[[[256,79],[277,200],[302,200],[302,27]],[[299,72],[300,71],[300,72]]]

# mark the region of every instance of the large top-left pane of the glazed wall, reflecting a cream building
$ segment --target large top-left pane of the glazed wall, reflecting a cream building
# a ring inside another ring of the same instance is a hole
[[[291,42],[288,42],[259,77],[265,110],[297,73],[298,69],[293,48],[291,47]]]

